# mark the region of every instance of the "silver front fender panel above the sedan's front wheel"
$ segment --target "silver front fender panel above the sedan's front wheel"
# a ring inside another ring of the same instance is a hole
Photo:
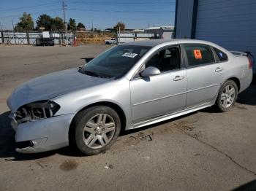
[[[77,114],[81,109],[99,102],[110,102],[118,105],[127,117],[131,119],[129,80],[120,79],[105,85],[90,87],[51,99],[61,106],[55,115]]]

